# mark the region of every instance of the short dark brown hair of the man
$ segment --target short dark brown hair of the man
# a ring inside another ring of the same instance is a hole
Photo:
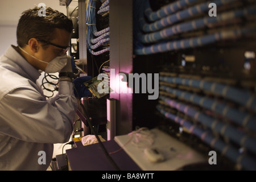
[[[39,16],[39,7],[26,10],[20,16],[16,36],[18,46],[24,47],[31,38],[51,41],[55,36],[55,28],[61,28],[67,32],[72,32],[72,20],[50,7],[46,7],[46,16]],[[46,43],[42,43],[43,48],[47,48]]]

